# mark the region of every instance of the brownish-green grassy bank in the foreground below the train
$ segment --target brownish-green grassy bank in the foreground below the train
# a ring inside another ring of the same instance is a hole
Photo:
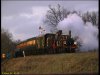
[[[98,52],[36,55],[3,62],[1,71],[20,74],[98,73],[98,62]]]

